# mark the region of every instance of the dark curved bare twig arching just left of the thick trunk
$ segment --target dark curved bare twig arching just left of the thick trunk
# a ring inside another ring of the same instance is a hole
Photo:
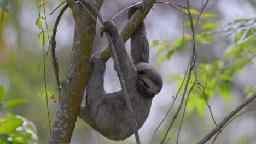
[[[51,56],[53,57],[53,67],[54,67],[54,71],[55,71],[55,77],[56,77],[56,81],[57,81],[57,89],[58,89],[58,95],[59,95],[59,102],[61,99],[61,86],[60,86],[60,78],[59,78],[59,64],[58,64],[58,59],[56,57],[56,33],[57,33],[57,27],[59,25],[60,19],[63,15],[63,13],[65,12],[65,10],[68,8],[68,4],[66,4],[60,11],[59,15],[57,16],[57,19],[55,21],[54,24],[54,28],[53,28],[53,35],[51,36]]]

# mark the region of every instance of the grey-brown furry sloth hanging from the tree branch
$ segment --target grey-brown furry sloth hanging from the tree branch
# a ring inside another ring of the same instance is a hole
[[[129,20],[137,9],[139,9],[138,5],[129,9]],[[131,34],[132,59],[114,22],[104,22],[101,34],[104,32],[112,36],[139,129],[148,118],[153,97],[162,88],[161,75],[148,64],[149,44],[144,22]],[[106,62],[98,53],[91,56],[89,67],[92,71],[86,90],[86,104],[80,108],[79,117],[108,139],[124,140],[134,133],[134,119],[126,104],[125,95],[121,91],[113,93],[104,91],[103,76]]]

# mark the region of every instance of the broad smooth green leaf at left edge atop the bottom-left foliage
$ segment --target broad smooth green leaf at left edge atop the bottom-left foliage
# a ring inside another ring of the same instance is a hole
[[[20,125],[22,125],[23,121],[20,118],[13,118],[7,122],[4,122],[0,125],[0,134],[9,134],[16,130]]]

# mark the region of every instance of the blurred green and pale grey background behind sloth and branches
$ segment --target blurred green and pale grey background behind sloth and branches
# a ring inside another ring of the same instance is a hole
[[[46,18],[48,19],[49,31],[52,33],[54,21],[60,9],[53,15],[49,15],[57,5],[62,1],[45,1]],[[186,1],[172,1],[179,5],[186,5]],[[129,6],[130,1],[104,1],[101,13],[104,19],[110,19],[122,9]],[[199,10],[201,1],[191,1],[191,8]],[[218,19],[212,19],[218,23],[219,27],[224,27],[232,19],[256,17],[256,2],[254,0],[236,1],[210,1],[206,7],[206,12],[220,15]],[[155,4],[145,19],[149,43],[154,40],[167,39],[173,41],[183,35],[183,15],[170,7],[161,4]],[[40,96],[45,92],[43,67],[40,64],[43,61],[43,47],[40,45],[38,34],[39,29],[35,25],[38,17],[37,2],[31,0],[9,1],[9,13],[5,21],[0,24],[0,85],[4,86],[4,96],[7,99],[22,98],[27,99],[28,103],[16,105],[9,109],[0,111],[0,117],[6,113],[12,112],[26,117],[33,122],[38,130],[38,143],[48,143],[49,127],[48,114],[46,110],[45,97]],[[127,22],[127,12],[116,17],[114,22],[118,23],[121,29]],[[187,22],[187,19],[185,19]],[[43,23],[44,24],[44,23]],[[256,28],[254,28],[255,31]],[[71,10],[67,10],[60,21],[57,32],[56,55],[59,60],[60,79],[65,79],[69,57],[72,47],[74,31],[74,21]],[[97,35],[93,52],[100,51],[106,46],[107,40],[100,38],[97,27]],[[185,32],[184,32],[185,33]],[[213,34],[211,44],[198,44],[197,58],[198,63],[213,62],[222,58],[223,51],[232,43],[232,38],[222,35],[222,33]],[[255,44],[255,43],[254,43]],[[130,41],[127,41],[126,47],[130,50]],[[48,44],[46,43],[46,49]],[[174,73],[183,74],[188,62],[189,50],[178,51],[173,54],[170,61],[164,61],[156,66],[159,55],[155,55],[157,49],[150,49],[150,64],[156,67],[164,78],[164,87],[157,97],[153,100],[152,111],[143,125],[139,134],[142,143],[148,143],[152,137],[155,128],[164,117],[170,106],[173,95],[176,94],[176,83],[169,82],[168,76]],[[51,58],[48,56],[49,63],[46,63],[46,84],[48,92],[54,94],[57,100],[56,81],[54,70],[50,64]],[[255,63],[255,59],[253,59]],[[39,69],[40,68],[40,69]],[[231,98],[229,101],[219,97],[213,97],[209,100],[217,123],[229,113],[234,107],[240,104],[244,99],[243,89],[250,85],[255,85],[256,69],[255,65],[246,65],[240,74],[235,74],[232,84],[230,85]],[[113,80],[114,79],[114,80]],[[113,70],[113,62],[107,63],[105,76],[105,88],[107,92],[113,92],[120,89],[119,81]],[[49,99],[50,120],[54,122],[58,102]],[[178,103],[177,103],[178,104]],[[249,106],[255,106],[255,101]],[[162,137],[166,127],[173,116],[174,110],[171,111],[171,117],[167,123],[159,130],[158,137]],[[256,143],[256,112],[252,111],[246,115],[237,118],[230,124],[217,139],[216,143]],[[176,140],[177,128],[181,117],[179,116],[172,131],[175,133],[171,136],[169,143]],[[205,115],[201,116],[197,111],[192,111],[185,116],[179,143],[196,143],[206,133],[214,127],[208,109]],[[103,136],[93,131],[87,124],[78,119],[76,124],[72,143],[135,143],[134,136],[122,142],[114,142],[105,139]],[[209,142],[210,143],[210,142]]]

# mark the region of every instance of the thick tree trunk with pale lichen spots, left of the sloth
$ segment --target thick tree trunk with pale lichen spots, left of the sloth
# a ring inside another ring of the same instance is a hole
[[[103,0],[94,1],[96,8],[100,9]],[[80,4],[75,3],[74,0],[67,0],[67,2],[75,20],[73,47],[67,78],[61,83],[62,98],[49,143],[69,143],[71,141],[84,90],[89,79],[88,61],[96,34],[96,22],[85,9]],[[97,16],[91,8],[88,9],[92,15]],[[83,61],[86,63],[78,69],[79,64]]]

